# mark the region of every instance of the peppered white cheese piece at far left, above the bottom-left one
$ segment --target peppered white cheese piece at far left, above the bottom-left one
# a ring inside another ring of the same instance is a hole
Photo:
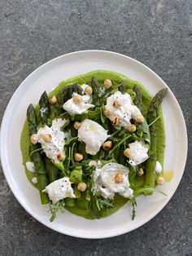
[[[52,121],[52,126],[44,126],[37,131],[38,142],[41,143],[46,157],[58,161],[57,156],[59,152],[63,152],[64,139],[70,136],[69,132],[64,133],[61,127],[65,124],[66,120],[58,118]],[[47,142],[44,139],[45,135],[51,135],[52,139]]]

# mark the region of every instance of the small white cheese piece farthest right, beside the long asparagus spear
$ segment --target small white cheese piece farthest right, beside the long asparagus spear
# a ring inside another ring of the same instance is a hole
[[[135,141],[133,143],[129,143],[130,148],[130,159],[129,163],[133,166],[137,166],[141,164],[143,161],[146,161],[147,158],[149,158],[147,152],[148,152],[148,145],[141,142],[141,141]]]

